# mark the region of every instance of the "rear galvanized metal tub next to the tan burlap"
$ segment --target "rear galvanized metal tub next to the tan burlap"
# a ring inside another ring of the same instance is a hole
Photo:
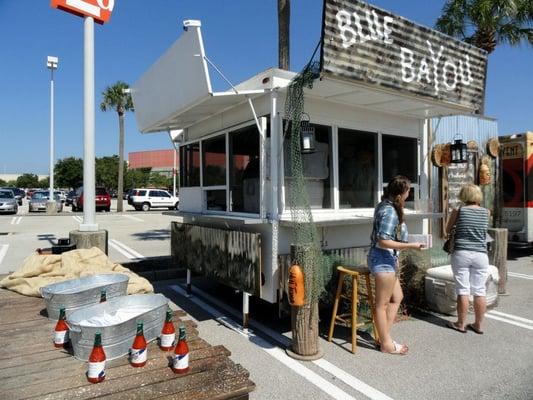
[[[41,295],[46,302],[48,318],[59,318],[60,307],[65,307],[68,314],[99,303],[102,290],[106,291],[107,299],[125,296],[129,279],[124,274],[97,274],[44,286]]]

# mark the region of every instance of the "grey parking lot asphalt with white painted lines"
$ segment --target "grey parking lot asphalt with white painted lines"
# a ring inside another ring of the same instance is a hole
[[[113,210],[112,205],[112,210]],[[70,207],[57,216],[0,216],[0,273],[20,267],[37,247],[68,237],[82,213]],[[161,211],[126,208],[122,213],[97,213],[109,231],[109,258],[125,263],[170,254],[170,223]],[[485,334],[461,334],[445,327],[453,317],[418,313],[398,322],[395,339],[407,342],[407,356],[378,352],[372,340],[359,336],[350,352],[349,330],[336,328],[325,340],[328,310],[321,314],[320,346],[324,357],[313,362],[289,358],[290,317],[278,318],[275,305],[252,299],[251,326],[243,330],[241,295],[195,277],[187,297],[181,280],[155,282],[176,305],[198,321],[200,336],[222,344],[232,359],[250,371],[257,389],[252,399],[533,399],[533,260],[531,253],[510,253],[507,295],[487,314]],[[473,316],[469,316],[473,318]],[[0,379],[1,384],[1,379]]]

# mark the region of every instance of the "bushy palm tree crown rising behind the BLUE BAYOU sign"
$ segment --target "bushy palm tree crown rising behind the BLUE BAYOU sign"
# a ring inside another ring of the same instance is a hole
[[[436,27],[487,53],[499,44],[533,45],[533,1],[447,0]]]

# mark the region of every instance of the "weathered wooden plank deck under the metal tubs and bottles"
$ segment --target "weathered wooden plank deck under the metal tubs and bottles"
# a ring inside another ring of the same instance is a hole
[[[107,362],[105,381],[91,384],[86,363],[54,348],[55,323],[44,315],[43,299],[0,289],[0,399],[248,399],[255,388],[225,347],[211,346],[198,337],[194,322],[181,321],[183,311],[174,321],[186,328],[188,373],[174,374],[170,353],[152,342],[143,368],[131,367],[124,356]]]

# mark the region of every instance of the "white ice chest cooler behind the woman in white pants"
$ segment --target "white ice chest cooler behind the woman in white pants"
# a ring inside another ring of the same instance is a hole
[[[486,283],[487,306],[497,304],[499,279],[498,268],[489,265],[489,277]],[[457,314],[457,296],[451,265],[430,268],[426,271],[425,297],[431,310],[448,315]]]

